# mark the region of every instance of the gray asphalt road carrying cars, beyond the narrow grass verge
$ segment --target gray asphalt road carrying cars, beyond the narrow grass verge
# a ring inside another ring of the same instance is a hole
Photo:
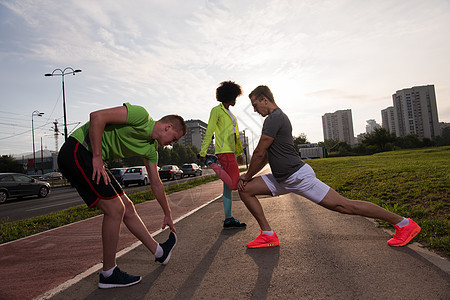
[[[203,176],[211,175],[211,169],[203,170]],[[199,177],[187,177],[175,181],[164,180],[164,185],[183,183]],[[127,194],[149,189],[150,186],[131,185],[123,187]],[[26,197],[23,199],[11,199],[0,205],[0,222],[13,222],[31,217],[41,216],[52,212],[57,212],[66,208],[84,204],[83,199],[72,187],[53,188],[51,193],[45,198]]]

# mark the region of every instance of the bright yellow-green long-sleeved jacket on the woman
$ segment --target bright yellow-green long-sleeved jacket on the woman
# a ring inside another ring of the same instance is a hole
[[[200,156],[206,155],[213,134],[215,134],[215,154],[235,153],[236,156],[240,156],[244,152],[239,138],[237,119],[236,117],[234,119],[236,120],[235,128],[233,128],[233,120],[222,103],[213,107],[209,115],[208,128],[203,138]]]

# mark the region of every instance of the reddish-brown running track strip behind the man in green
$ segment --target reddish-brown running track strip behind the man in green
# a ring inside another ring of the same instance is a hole
[[[219,197],[221,192],[222,182],[214,181],[168,195],[173,219]],[[148,201],[136,208],[148,230],[157,232],[164,217],[158,202]],[[102,219],[97,216],[0,245],[0,299],[33,299],[99,264]],[[122,226],[118,251],[137,241]]]

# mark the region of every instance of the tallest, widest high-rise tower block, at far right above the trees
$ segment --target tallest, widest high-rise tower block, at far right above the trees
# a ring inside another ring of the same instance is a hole
[[[433,138],[440,135],[434,85],[397,91],[392,101],[397,136],[416,134],[419,138]]]

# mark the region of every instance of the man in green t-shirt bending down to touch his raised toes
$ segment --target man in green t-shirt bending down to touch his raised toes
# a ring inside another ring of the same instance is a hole
[[[103,213],[103,271],[100,288],[130,286],[141,276],[129,275],[116,265],[116,249],[122,222],[154,255],[155,261],[168,263],[176,245],[175,226],[164,186],[157,169],[158,145],[173,145],[186,134],[186,123],[178,115],[154,121],[141,106],[123,106],[92,112],[90,120],[64,143],[58,155],[62,174],[77,189],[89,207]],[[164,211],[162,228],[169,226],[169,239],[158,244],[137,214],[134,204],[122,190],[105,160],[141,156],[149,174],[153,194]]]

